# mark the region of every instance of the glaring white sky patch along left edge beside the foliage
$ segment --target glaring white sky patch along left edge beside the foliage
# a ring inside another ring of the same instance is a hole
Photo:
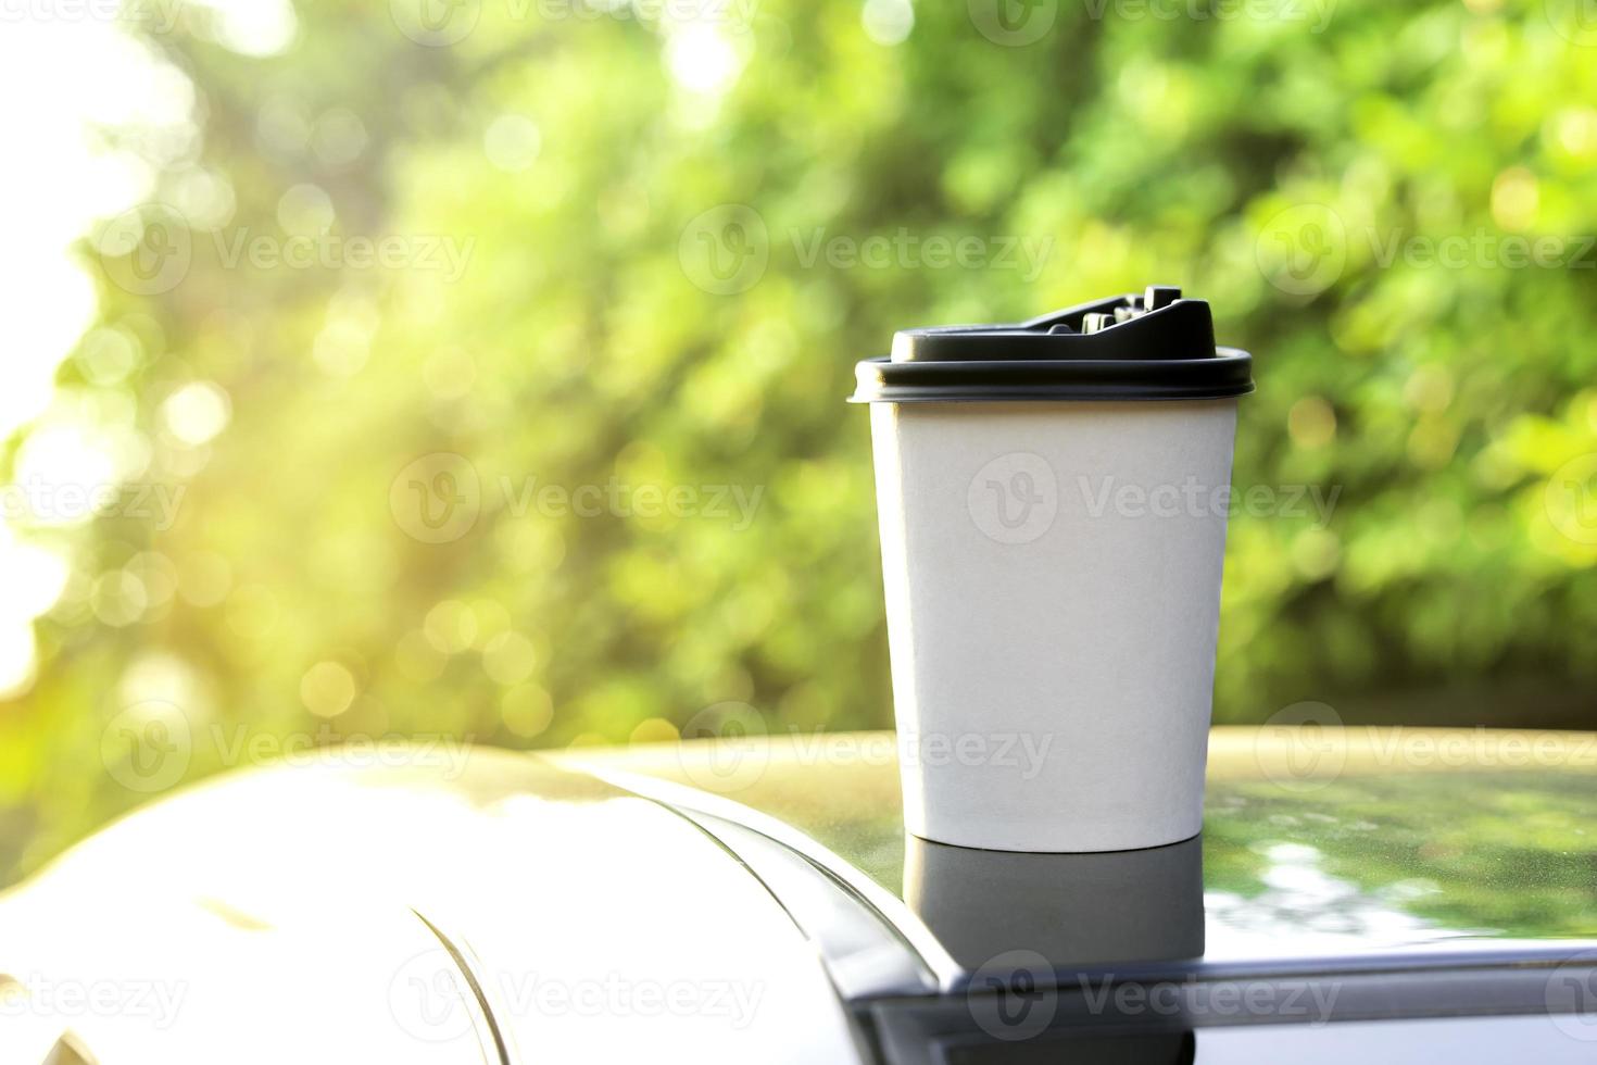
[[[155,166],[192,156],[198,144],[188,80],[96,11],[38,5],[0,27],[0,99],[13,102],[0,112],[0,137],[16,147],[0,168],[0,201],[10,206],[0,291],[11,297],[0,321],[0,444],[27,433],[14,479],[0,482],[0,699],[34,683],[32,621],[54,605],[70,570],[61,544],[24,529],[86,522],[91,509],[61,489],[105,490],[144,461],[126,426],[65,417],[56,386],[99,310],[93,262],[83,260],[93,252],[80,241],[99,219],[149,200]],[[136,150],[113,144],[110,129]],[[118,377],[112,362],[131,369],[131,359],[115,358],[96,369]]]

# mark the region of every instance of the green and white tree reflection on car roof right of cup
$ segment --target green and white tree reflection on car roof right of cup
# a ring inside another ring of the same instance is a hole
[[[1503,936],[1578,939],[1597,928],[1594,816],[1583,773],[1346,776],[1311,795],[1223,784],[1204,867],[1211,891],[1247,905],[1250,923],[1271,897],[1302,918],[1305,893],[1319,893],[1327,931],[1389,926],[1401,913],[1415,918],[1417,942],[1484,918]],[[1286,843],[1316,819],[1314,848]]]

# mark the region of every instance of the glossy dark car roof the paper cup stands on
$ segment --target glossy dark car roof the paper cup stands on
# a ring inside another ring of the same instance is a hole
[[[1201,955],[1284,971],[1567,955],[1597,936],[1594,733],[1327,728],[1305,742],[1300,730],[1215,728],[1203,837],[1116,854],[907,835],[893,733],[561,760],[798,829],[904,901],[965,968],[1020,942],[1078,968]]]

